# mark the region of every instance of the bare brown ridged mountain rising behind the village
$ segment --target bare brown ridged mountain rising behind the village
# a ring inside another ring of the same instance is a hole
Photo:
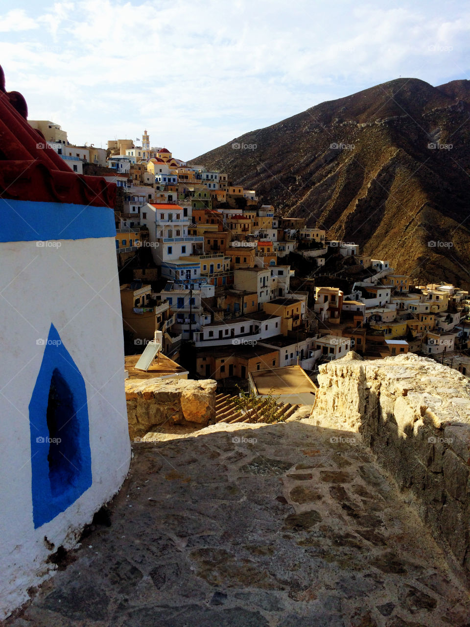
[[[192,162],[227,172],[263,204],[360,244],[395,271],[470,287],[469,136],[470,81],[399,78]]]

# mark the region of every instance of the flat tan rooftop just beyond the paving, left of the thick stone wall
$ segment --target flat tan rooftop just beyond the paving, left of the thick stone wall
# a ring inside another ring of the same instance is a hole
[[[284,366],[250,372],[258,394],[308,394],[316,393],[317,387],[300,366]],[[312,396],[313,404],[313,396]]]

